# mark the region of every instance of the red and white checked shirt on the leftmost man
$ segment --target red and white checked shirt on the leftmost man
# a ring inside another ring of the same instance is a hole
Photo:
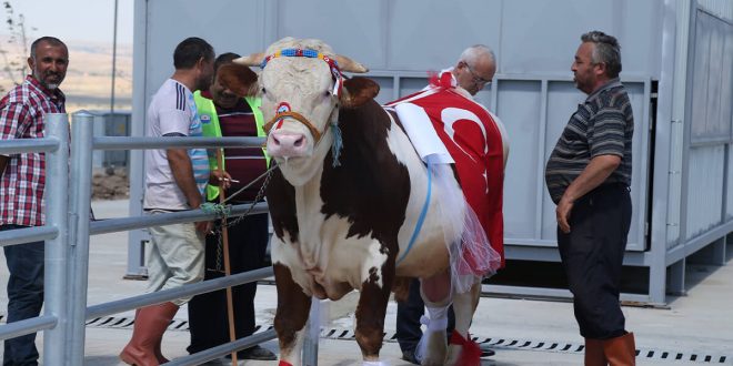
[[[28,75],[0,100],[0,140],[43,138],[47,113],[66,113],[66,96]],[[43,190],[46,154],[10,154],[0,172],[0,225],[41,226],[46,223]]]

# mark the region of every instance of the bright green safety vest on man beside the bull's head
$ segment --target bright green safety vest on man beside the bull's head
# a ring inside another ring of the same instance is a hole
[[[193,93],[193,100],[195,101],[195,108],[199,111],[199,116],[201,118],[201,129],[205,138],[221,138],[221,126],[219,125],[219,115],[217,114],[217,108],[214,106],[213,100],[208,99],[201,95],[201,91],[198,90]],[[264,118],[262,116],[262,111],[260,111],[260,104],[262,101],[255,96],[244,96],[244,101],[252,109],[252,114],[254,114],[254,123],[257,124],[257,135],[259,138],[264,138]],[[262,155],[264,156],[267,166],[270,166],[270,155],[268,155],[264,148],[262,148]],[[221,169],[224,170],[224,150],[221,149]],[[209,167],[213,171],[219,169],[217,163],[217,154],[209,154]],[[219,187],[212,184],[207,184],[207,200],[213,201],[219,196]]]

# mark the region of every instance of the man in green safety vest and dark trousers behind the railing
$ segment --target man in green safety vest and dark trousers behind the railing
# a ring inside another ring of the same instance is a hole
[[[248,67],[231,61],[239,58],[234,53],[223,53],[214,61],[214,82],[205,91],[194,93],[194,100],[201,116],[204,136],[264,136],[263,118],[260,100],[248,89],[257,81],[257,75]],[[259,184],[231,196],[253,181],[268,169],[268,160],[262,149],[224,149],[223,166],[219,173],[217,150],[209,151],[209,166],[212,181],[207,186],[207,200],[219,202],[220,179],[224,184],[229,203],[249,203],[257,197]],[[232,224],[237,222],[235,224]],[[242,273],[264,266],[268,246],[268,214],[249,215],[240,220],[228,220],[229,258],[231,273]],[[223,243],[221,227],[215,234],[207,236],[204,279],[224,275]],[[254,294],[257,283],[239,285],[232,288],[234,308],[234,329],[237,338],[254,333]],[[229,342],[225,291],[220,289],[197,295],[189,303],[189,325],[191,332],[190,353],[197,353]],[[275,355],[260,346],[240,350],[238,358],[274,360]]]

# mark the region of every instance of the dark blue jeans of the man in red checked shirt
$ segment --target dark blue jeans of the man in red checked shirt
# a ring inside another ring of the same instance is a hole
[[[21,228],[0,225],[0,231]],[[43,306],[43,242],[3,246],[10,272],[8,279],[8,323],[36,317]],[[36,333],[6,339],[3,366],[38,365]]]

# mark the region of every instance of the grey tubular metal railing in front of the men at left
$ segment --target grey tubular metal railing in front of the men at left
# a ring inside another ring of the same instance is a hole
[[[0,232],[1,245],[46,240],[46,307],[42,316],[0,326],[0,339],[38,331],[43,334],[46,365],[82,365],[86,323],[94,317],[159,304],[171,299],[237,286],[272,276],[272,268],[261,268],[227,277],[184,285],[87,307],[90,235],[219,218],[201,210],[109,218],[90,222],[92,152],[98,150],[260,146],[261,138],[93,138],[93,115],[72,115],[71,149],[67,114],[48,114],[44,139],[0,142],[0,153],[47,152],[47,224]],[[69,163],[71,150],[71,163]],[[69,194],[68,182],[74,182]],[[249,205],[232,206],[230,216],[242,215]],[[268,211],[265,203],[252,213]],[[314,303],[318,303],[315,301]],[[318,304],[314,304],[318,306]],[[315,307],[317,308],[317,307]],[[311,327],[320,327],[311,322]],[[313,332],[309,332],[313,333]],[[317,337],[318,337],[318,333]],[[275,338],[273,329],[237,339],[197,354],[171,360],[170,365],[198,365],[237,349]],[[307,339],[303,365],[318,364],[318,339]]]

